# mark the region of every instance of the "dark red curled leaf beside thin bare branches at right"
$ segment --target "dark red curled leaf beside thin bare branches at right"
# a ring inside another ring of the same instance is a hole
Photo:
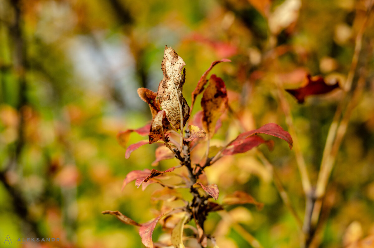
[[[297,99],[298,103],[303,103],[305,97],[312,95],[319,95],[329,93],[330,91],[339,88],[339,83],[333,85],[326,84],[324,78],[321,76],[311,77],[309,74],[306,78],[306,84],[295,90],[286,90],[289,94]]]

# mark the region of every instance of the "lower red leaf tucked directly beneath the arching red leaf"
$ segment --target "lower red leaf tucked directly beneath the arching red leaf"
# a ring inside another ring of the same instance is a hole
[[[222,152],[223,155],[233,155],[237,153],[243,153],[249,151],[250,149],[261,145],[262,143],[266,143],[269,150],[273,149],[274,141],[273,140],[264,140],[260,136],[249,136],[243,140],[238,140],[237,142],[233,142],[230,147],[224,149]]]

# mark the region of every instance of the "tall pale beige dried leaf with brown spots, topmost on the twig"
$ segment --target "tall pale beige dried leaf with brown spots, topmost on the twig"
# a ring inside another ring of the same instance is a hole
[[[184,99],[182,91],[186,79],[183,59],[171,47],[165,46],[164,58],[161,63],[163,79],[159,84],[157,96],[161,108],[175,129],[182,129],[190,116],[190,107]],[[183,127],[181,128],[181,123]]]

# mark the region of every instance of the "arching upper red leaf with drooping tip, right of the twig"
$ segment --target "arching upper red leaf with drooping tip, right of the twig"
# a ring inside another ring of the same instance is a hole
[[[268,134],[268,135],[283,139],[288,143],[289,148],[292,149],[291,135],[289,135],[287,131],[285,131],[281,126],[275,123],[268,123],[255,130],[251,130],[251,131],[247,131],[245,133],[239,134],[239,136],[237,136],[236,139],[234,139],[230,145],[235,145],[235,143],[238,143],[238,142],[240,143],[246,137],[259,134],[259,133],[264,133],[264,134]]]

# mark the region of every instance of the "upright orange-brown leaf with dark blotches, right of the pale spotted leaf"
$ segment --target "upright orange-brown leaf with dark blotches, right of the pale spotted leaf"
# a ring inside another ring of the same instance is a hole
[[[203,93],[201,106],[203,108],[203,128],[211,138],[215,133],[218,119],[227,108],[226,85],[221,78],[217,78],[214,74],[209,79],[209,85]]]

